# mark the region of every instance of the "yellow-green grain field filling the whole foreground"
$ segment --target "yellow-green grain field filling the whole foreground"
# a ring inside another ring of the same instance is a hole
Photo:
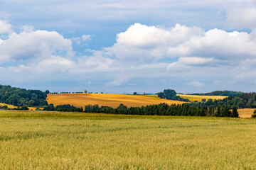
[[[0,169],[256,169],[256,120],[0,111]]]

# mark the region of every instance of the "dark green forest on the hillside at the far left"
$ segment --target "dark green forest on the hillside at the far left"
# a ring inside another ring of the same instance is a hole
[[[0,85],[0,103],[14,106],[47,106],[47,93]]]

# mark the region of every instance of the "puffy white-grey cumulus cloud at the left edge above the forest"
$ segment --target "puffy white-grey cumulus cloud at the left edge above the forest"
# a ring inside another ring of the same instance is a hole
[[[73,55],[71,40],[55,31],[23,28],[0,42],[0,64],[11,61],[36,60],[58,54]]]

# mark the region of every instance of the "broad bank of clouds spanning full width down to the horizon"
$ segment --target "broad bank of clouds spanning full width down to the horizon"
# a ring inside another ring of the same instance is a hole
[[[87,50],[91,55],[76,55],[73,42],[79,45],[92,40],[90,35],[68,39],[29,26],[16,33],[8,22],[1,24],[0,35],[8,34],[0,36],[1,84],[33,82],[33,86],[45,84],[41,88],[51,91],[74,84],[74,89],[90,86],[112,93],[166,88],[193,92],[230,86],[230,90],[244,91],[240,84],[247,84],[252,91],[255,86],[256,30],[229,32],[134,23],[117,34],[112,46]]]

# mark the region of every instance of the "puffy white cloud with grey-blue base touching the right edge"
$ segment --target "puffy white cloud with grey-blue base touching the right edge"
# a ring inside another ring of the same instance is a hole
[[[176,47],[169,47],[171,56],[217,57],[220,60],[256,56],[256,41],[245,32],[228,33],[225,30],[208,30]]]

